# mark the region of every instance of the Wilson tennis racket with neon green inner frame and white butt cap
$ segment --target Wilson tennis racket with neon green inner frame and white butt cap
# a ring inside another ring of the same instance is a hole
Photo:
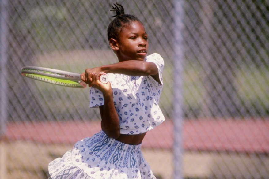
[[[21,75],[34,80],[44,81],[60,86],[72,88],[87,87],[87,84],[81,81],[79,73],[72,73],[63,70],[37,66],[25,66],[21,69]],[[102,83],[108,83],[108,76],[106,75],[101,75],[99,79]]]

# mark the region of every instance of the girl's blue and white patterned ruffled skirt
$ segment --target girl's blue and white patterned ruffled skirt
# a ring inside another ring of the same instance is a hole
[[[121,143],[102,130],[78,141],[48,168],[52,179],[156,179],[141,153],[141,144]]]

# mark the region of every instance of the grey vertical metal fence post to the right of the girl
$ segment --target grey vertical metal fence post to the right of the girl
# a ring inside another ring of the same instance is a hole
[[[183,104],[183,96],[182,96],[182,88],[183,88],[183,1],[176,0],[175,2],[175,14],[174,14],[174,146],[173,146],[173,154],[174,154],[174,179],[182,179],[183,178],[183,170],[182,170],[182,157],[183,157],[183,137],[182,137],[182,123],[183,123],[183,115],[182,115],[182,104]]]

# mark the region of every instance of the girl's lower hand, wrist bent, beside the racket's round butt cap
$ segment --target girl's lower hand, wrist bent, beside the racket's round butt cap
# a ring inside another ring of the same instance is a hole
[[[108,81],[107,84],[102,83],[99,79],[101,75],[105,75],[106,73],[104,72],[96,72],[96,73],[92,73],[90,75],[90,79],[91,79],[91,86],[93,88],[97,88],[99,89],[103,94],[106,93],[112,93],[112,88],[111,88],[111,84]]]

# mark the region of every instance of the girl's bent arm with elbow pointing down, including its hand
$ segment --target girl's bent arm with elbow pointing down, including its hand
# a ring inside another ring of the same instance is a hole
[[[105,73],[96,72],[92,74],[91,86],[99,89],[104,96],[104,105],[99,106],[102,119],[101,128],[109,138],[117,139],[120,135],[119,117],[113,102],[111,84],[109,82],[103,84],[99,80],[102,74]]]

